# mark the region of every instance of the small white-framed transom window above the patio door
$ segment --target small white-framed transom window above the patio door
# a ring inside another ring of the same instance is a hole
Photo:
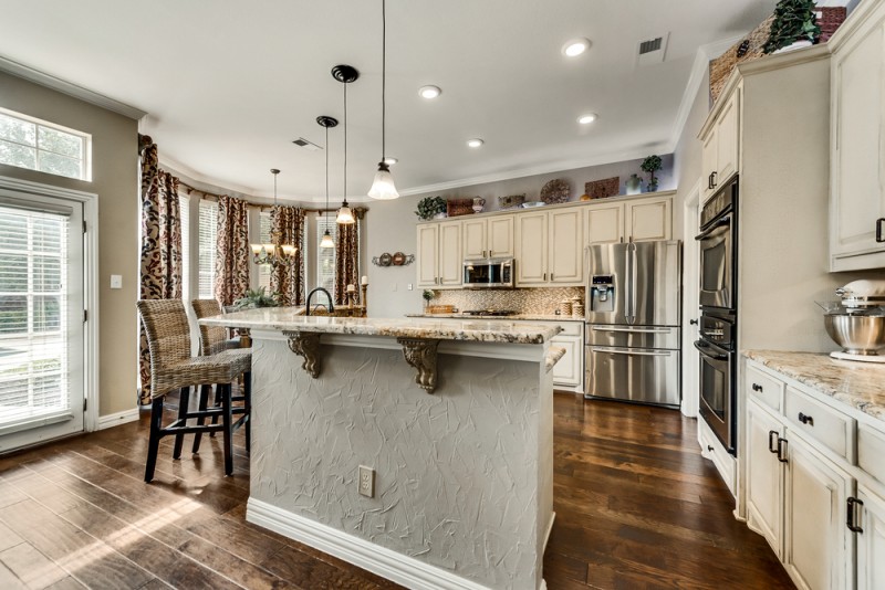
[[[92,136],[0,108],[0,164],[92,180]]]

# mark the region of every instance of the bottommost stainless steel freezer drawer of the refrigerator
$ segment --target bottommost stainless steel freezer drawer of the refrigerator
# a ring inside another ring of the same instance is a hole
[[[587,346],[589,397],[678,407],[679,350]]]

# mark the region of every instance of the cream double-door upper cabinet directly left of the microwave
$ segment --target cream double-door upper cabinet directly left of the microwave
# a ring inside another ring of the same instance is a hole
[[[418,286],[457,288],[461,286],[461,222],[421,223],[417,230]]]

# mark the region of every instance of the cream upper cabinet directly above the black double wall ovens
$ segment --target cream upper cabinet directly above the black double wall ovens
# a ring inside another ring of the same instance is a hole
[[[704,169],[701,190],[705,199],[738,171],[740,95],[740,87],[735,88],[722,103],[715,123],[700,137]]]

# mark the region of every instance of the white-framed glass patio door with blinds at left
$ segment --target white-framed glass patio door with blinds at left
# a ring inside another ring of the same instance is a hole
[[[81,432],[83,203],[0,190],[0,453]]]

